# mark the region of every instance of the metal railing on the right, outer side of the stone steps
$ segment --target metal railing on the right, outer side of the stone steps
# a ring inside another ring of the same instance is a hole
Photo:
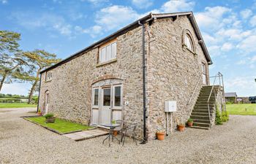
[[[215,85],[215,82],[216,82],[217,77],[219,77],[218,92],[219,92],[219,89],[222,87],[222,88],[223,88],[223,89],[222,89],[222,97],[225,96],[225,95],[224,95],[225,93],[224,93],[223,75],[222,75],[220,72],[218,72],[218,74],[215,75],[214,77],[209,77],[209,79],[214,78],[214,82],[213,82],[212,87],[211,87],[211,92],[210,92],[210,95],[209,95],[208,101],[207,101],[207,105],[208,105],[208,114],[209,114],[209,120],[210,120],[210,128],[211,128],[211,112],[210,112],[210,104],[209,104],[209,101],[210,101],[210,99],[211,99],[211,94],[212,94],[213,92],[214,92],[214,98],[215,98],[215,100],[216,100],[216,92],[215,92],[215,90],[214,90],[214,85]],[[218,93],[218,92],[217,92],[217,93]],[[222,100],[222,103],[223,103],[223,100]],[[223,106],[223,104],[222,104],[222,106]],[[216,107],[215,104],[214,104],[214,107]]]

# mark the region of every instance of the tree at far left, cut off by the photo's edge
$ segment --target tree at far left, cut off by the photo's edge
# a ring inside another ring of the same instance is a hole
[[[20,55],[19,40],[18,33],[0,31],[0,91],[4,83],[10,83],[17,74],[22,74],[26,61]]]

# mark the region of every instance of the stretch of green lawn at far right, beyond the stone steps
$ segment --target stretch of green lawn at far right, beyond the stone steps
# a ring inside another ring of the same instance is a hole
[[[237,115],[256,115],[256,104],[227,104],[227,112]]]

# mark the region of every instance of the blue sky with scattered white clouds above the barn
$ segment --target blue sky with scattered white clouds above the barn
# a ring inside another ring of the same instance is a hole
[[[256,95],[256,1],[0,0],[0,29],[21,34],[22,50],[44,49],[67,58],[148,12],[193,11],[225,91]],[[29,93],[30,84],[1,93]]]

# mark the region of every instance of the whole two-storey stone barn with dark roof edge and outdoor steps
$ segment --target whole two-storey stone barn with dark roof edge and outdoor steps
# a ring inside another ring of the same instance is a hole
[[[192,12],[149,14],[41,71],[39,109],[96,127],[137,122],[147,140],[167,127],[165,101],[176,101],[174,125],[192,117],[209,128],[217,99],[207,98],[214,90],[222,100],[223,89],[208,86],[210,64]]]

